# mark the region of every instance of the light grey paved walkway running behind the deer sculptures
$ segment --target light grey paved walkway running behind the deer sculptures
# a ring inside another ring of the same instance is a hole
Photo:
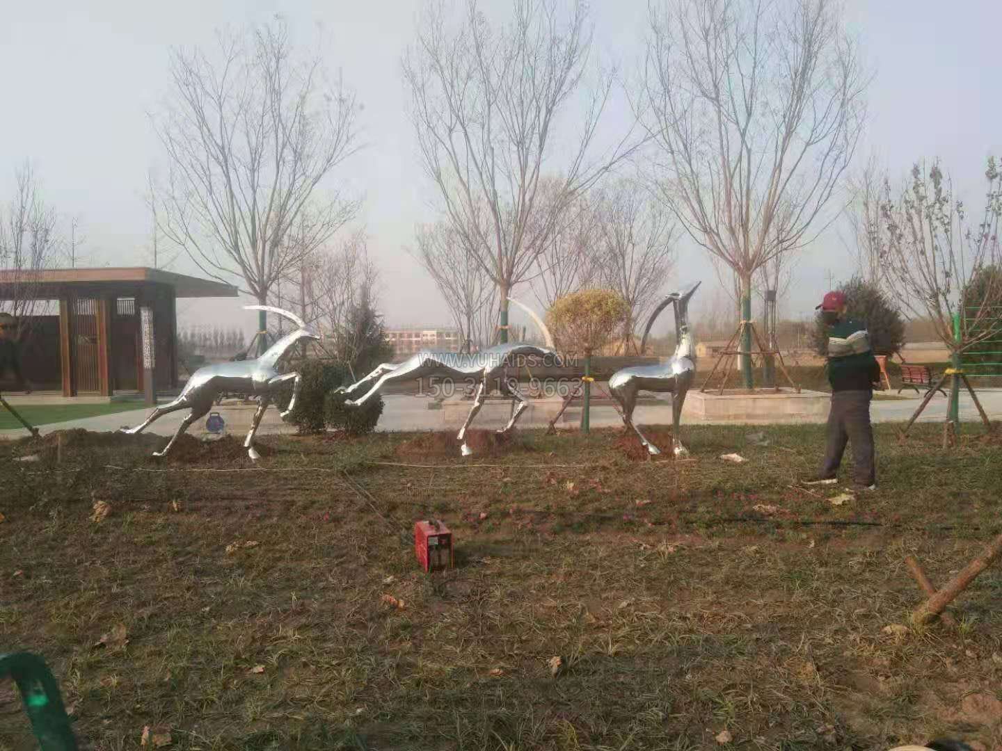
[[[904,396],[904,395],[902,395]],[[993,421],[1002,421],[1002,390],[984,390],[978,393],[982,406],[988,417]],[[428,405],[431,400],[427,398],[412,397],[406,395],[392,395],[385,398],[386,407],[383,410],[383,417],[380,420],[379,430],[381,431],[440,431],[453,430],[451,424],[447,424],[442,410],[429,410]],[[467,403],[469,404],[469,403]],[[920,418],[921,422],[939,422],[946,416],[947,400],[941,396],[933,399]],[[911,396],[902,400],[875,400],[873,403],[872,415],[876,423],[896,423],[905,422],[918,407],[918,397]],[[254,415],[253,406],[224,406],[217,408],[226,421],[227,429],[233,434],[243,434],[250,425],[250,417]],[[465,411],[463,411],[465,412]],[[94,432],[116,431],[122,426],[133,426],[142,422],[147,414],[146,409],[130,410],[128,412],[115,413],[113,415],[102,415],[83,420],[73,420],[66,423],[53,423],[51,425],[40,426],[39,431],[43,434],[52,431],[63,431],[73,428],[83,428]],[[170,415],[166,415],[149,427],[148,432],[158,436],[170,436],[177,430],[177,426],[187,414],[181,410]],[[455,412],[453,413],[456,414]],[[461,414],[461,413],[460,413]],[[544,428],[550,418],[551,413],[544,410],[530,410],[519,422],[522,428]],[[579,408],[569,409],[565,415],[563,425],[573,427],[577,424],[580,416]],[[967,395],[960,398],[960,417],[964,422],[977,422],[979,420],[974,403]],[[476,428],[496,428],[507,420],[506,403],[488,403],[480,417],[474,423]],[[635,413],[635,422],[640,425],[669,425],[671,423],[670,402],[667,399],[661,400],[655,405],[639,406]],[[690,425],[712,425],[710,421],[688,421]],[[795,420],[793,423],[814,422],[820,423],[823,420],[805,421]],[[719,421],[716,424],[735,424],[738,421]],[[608,406],[592,408],[591,425],[600,427],[619,426],[622,423],[616,412]],[[267,436],[280,433],[294,433],[295,429],[282,422],[279,412],[275,408],[269,409],[265,420],[262,422],[259,435]],[[193,426],[190,433],[198,436],[204,433],[204,422],[199,421]],[[0,431],[2,438],[20,438],[25,435],[21,430]]]

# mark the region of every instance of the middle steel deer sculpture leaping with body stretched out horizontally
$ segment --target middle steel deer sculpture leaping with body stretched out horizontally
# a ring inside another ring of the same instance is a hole
[[[488,384],[493,381],[502,394],[511,397],[511,419],[508,421],[508,425],[498,431],[499,434],[508,433],[515,427],[519,416],[529,407],[529,403],[519,393],[517,381],[514,379],[509,381],[502,378],[504,369],[512,364],[514,358],[519,355],[534,354],[550,358],[551,361],[556,361],[558,356],[556,350],[553,348],[553,337],[550,335],[549,329],[535,311],[516,299],[512,299],[511,297],[508,299],[525,310],[536,321],[546,339],[545,347],[526,343],[498,344],[497,346],[473,352],[472,354],[422,349],[399,364],[385,362],[361,381],[348,387],[342,387],[339,390],[340,392],[354,394],[366,385],[374,381],[376,382],[375,386],[370,388],[364,395],[358,399],[349,400],[345,404],[349,407],[361,407],[379,394],[387,384],[395,382],[414,381],[415,379],[431,377],[462,381],[467,379],[473,380],[477,383],[477,393],[473,399],[473,407],[470,408],[470,414],[467,416],[466,422],[456,437],[457,441],[463,442],[460,447],[463,456],[469,457],[473,454],[473,451],[466,444],[466,431],[469,429],[473,419],[477,417],[480,408],[483,407],[484,398],[487,396],[489,389]]]

